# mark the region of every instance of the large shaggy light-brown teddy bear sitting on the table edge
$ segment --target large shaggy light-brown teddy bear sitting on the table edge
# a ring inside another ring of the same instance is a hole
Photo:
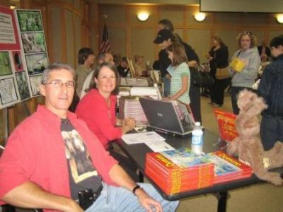
[[[262,98],[248,90],[239,93],[237,105],[240,109],[236,118],[238,137],[231,141],[227,153],[238,155],[240,160],[248,163],[258,178],[282,185],[280,174],[268,170],[283,166],[283,143],[277,141],[272,149],[264,151],[260,140],[258,114],[265,110],[267,105]]]

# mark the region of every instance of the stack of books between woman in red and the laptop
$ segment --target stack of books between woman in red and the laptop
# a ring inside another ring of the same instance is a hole
[[[146,126],[148,124],[137,96],[121,97],[119,99],[119,118],[134,118],[136,119],[136,126]]]

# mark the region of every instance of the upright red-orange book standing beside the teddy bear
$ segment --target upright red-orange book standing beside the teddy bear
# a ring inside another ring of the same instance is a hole
[[[220,138],[224,141],[232,141],[238,137],[235,121],[236,114],[224,110],[214,110],[215,117],[219,126]]]

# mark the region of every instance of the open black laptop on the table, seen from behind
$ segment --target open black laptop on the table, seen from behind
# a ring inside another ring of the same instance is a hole
[[[141,107],[152,129],[181,136],[192,132],[194,128],[192,122],[181,122],[174,102],[149,98],[139,98],[139,102],[141,102]]]

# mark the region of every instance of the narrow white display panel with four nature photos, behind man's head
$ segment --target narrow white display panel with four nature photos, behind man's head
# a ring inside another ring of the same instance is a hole
[[[28,73],[31,95],[40,95],[42,72],[49,64],[42,14],[39,10],[15,10],[25,70]]]

